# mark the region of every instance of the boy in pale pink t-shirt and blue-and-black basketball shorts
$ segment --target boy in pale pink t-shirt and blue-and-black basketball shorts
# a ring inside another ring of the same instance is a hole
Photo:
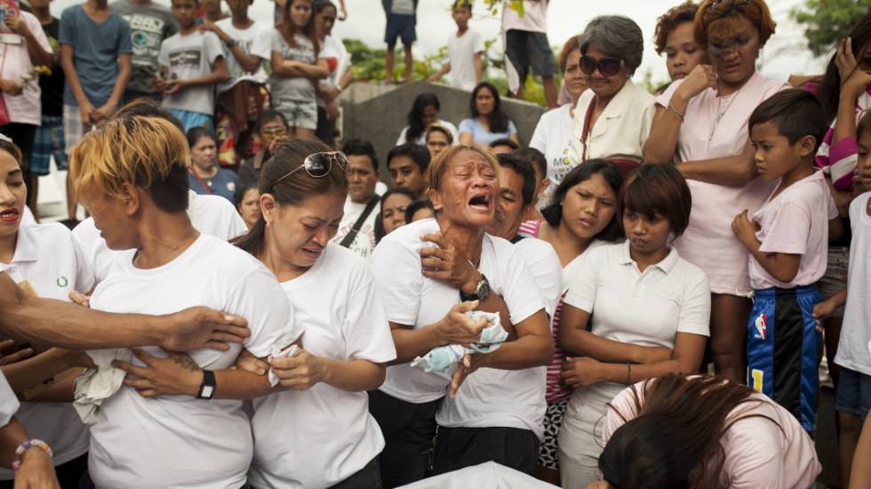
[[[839,234],[841,227],[825,176],[814,167],[826,119],[810,92],[794,89],[760,104],[747,127],[757,172],[779,180],[758,211],[745,210],[731,225],[750,252],[755,291],[747,322],[749,382],[812,433],[819,381],[815,284],[826,271],[830,230]]]

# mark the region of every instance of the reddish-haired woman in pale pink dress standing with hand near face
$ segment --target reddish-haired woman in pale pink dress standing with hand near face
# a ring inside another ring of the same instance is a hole
[[[644,161],[674,159],[688,180],[690,226],[675,246],[710,280],[716,372],[744,382],[751,288],[747,249],[731,233],[731,220],[745,209],[754,212],[773,189],[771,182],[757,178],[747,119],[787,84],[755,69],[759,50],[775,27],[763,0],[705,0],[693,26],[696,42],[707,46],[712,64],[696,66],[657,98]]]

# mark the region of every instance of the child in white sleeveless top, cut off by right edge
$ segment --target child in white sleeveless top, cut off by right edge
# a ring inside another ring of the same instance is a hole
[[[871,112],[866,112],[859,121],[856,140],[859,143],[859,159],[853,192],[860,195],[850,204],[852,240],[847,288],[814,308],[814,316],[821,319],[846,302],[841,341],[835,355],[835,364],[841,367],[835,410],[838,412],[838,421],[841,421],[838,443],[844,475],[851,474],[851,460],[856,451],[862,420],[867,418],[868,409],[871,408],[871,396],[867,395],[867,392],[871,392],[871,330],[868,329],[871,324],[871,303],[867,301],[871,292],[871,267],[868,265],[871,259],[867,256],[868,250],[871,250]],[[846,487],[849,482],[845,481],[843,486]]]

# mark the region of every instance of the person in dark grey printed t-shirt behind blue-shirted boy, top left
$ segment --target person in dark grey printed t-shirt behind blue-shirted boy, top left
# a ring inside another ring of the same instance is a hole
[[[130,23],[133,46],[132,76],[124,90],[124,101],[147,97],[160,101],[156,81],[160,76],[160,44],[179,32],[170,9],[154,0],[116,0],[112,12]]]

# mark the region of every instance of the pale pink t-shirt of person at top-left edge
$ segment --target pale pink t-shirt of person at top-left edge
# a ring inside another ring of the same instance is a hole
[[[48,43],[43,26],[39,24],[36,16],[30,12],[20,12],[20,15],[36,38],[36,42],[43,46],[46,52],[51,53],[52,45]],[[3,101],[6,104],[6,111],[13,123],[40,125],[42,104],[39,100],[39,76],[32,75],[34,66],[28,54],[28,41],[18,34],[9,32],[9,28],[4,27],[3,30],[4,42],[0,42],[0,78],[24,86],[24,90],[15,96],[4,92]],[[27,83],[23,82],[22,80],[28,76],[32,79]]]

